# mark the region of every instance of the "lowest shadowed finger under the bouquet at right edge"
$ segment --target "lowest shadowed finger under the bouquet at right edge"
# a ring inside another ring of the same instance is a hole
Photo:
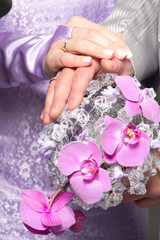
[[[160,203],[160,198],[148,198],[147,197],[147,198],[143,198],[140,200],[136,200],[133,203],[140,208],[147,208],[154,204]]]

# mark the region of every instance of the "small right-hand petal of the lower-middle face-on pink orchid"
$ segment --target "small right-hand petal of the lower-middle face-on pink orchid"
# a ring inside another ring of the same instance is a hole
[[[111,182],[106,170],[99,168],[99,174],[95,177],[95,180],[98,180],[103,185],[103,192],[108,192],[112,189]]]

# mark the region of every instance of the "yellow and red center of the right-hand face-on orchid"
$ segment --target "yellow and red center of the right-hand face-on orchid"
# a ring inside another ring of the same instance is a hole
[[[141,131],[134,125],[128,125],[123,131],[123,141],[125,143],[136,143],[141,135]]]

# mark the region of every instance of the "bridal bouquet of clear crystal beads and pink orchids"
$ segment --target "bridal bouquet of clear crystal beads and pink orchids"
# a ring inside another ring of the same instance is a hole
[[[63,113],[40,134],[54,193],[22,193],[22,221],[30,230],[78,232],[89,210],[117,206],[123,194],[144,195],[160,169],[160,106],[152,88],[130,76],[101,75],[92,80],[81,105]]]

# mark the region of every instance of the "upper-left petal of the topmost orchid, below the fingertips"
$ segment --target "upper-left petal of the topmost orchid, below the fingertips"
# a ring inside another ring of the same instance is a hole
[[[115,82],[126,99],[130,101],[139,100],[141,90],[136,85],[134,78],[130,76],[117,76]]]

